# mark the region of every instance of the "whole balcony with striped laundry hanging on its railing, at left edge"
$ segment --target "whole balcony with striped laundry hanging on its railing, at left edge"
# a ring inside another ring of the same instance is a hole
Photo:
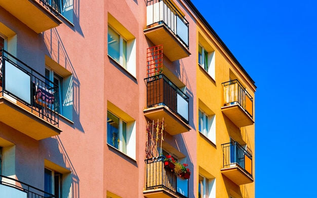
[[[0,122],[35,140],[59,135],[58,85],[4,50],[0,68]]]

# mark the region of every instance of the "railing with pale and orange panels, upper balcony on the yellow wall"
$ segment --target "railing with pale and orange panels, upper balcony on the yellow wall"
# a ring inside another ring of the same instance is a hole
[[[224,92],[224,106],[240,104],[253,117],[253,98],[238,80],[222,83]]]

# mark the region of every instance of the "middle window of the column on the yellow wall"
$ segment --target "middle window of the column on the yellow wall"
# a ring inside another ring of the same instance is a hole
[[[208,115],[199,109],[199,132],[204,134],[213,143],[216,143],[216,115]]]

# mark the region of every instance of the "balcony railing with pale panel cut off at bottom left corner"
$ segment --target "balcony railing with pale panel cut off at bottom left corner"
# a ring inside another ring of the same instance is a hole
[[[0,175],[0,197],[54,198],[55,195],[19,180]],[[8,194],[9,193],[9,194]]]

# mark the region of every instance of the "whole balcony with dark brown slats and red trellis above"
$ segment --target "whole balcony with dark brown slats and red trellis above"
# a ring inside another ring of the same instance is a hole
[[[189,97],[178,89],[164,74],[145,78],[147,108],[144,115],[150,120],[164,118],[165,130],[177,135],[190,130]]]

